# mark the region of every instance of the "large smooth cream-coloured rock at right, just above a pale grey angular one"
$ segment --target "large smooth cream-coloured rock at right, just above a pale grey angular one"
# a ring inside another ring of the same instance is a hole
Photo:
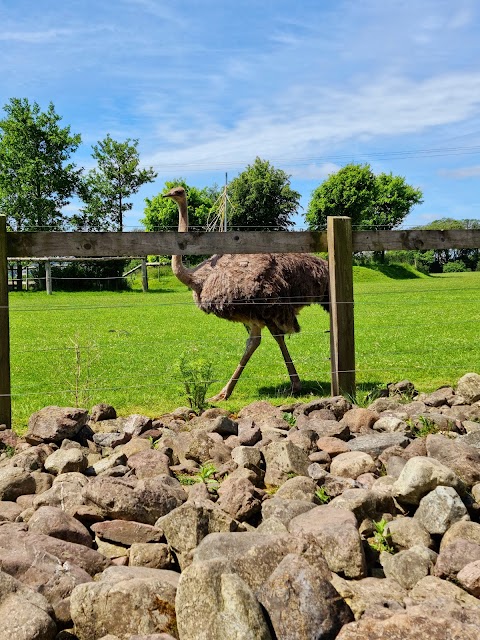
[[[393,489],[402,502],[419,504],[427,493],[439,485],[460,491],[463,487],[460,478],[435,458],[415,456],[407,460]]]

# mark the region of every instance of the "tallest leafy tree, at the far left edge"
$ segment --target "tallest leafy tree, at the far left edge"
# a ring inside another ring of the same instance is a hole
[[[68,160],[81,142],[60,127],[53,103],[46,112],[26,98],[11,98],[0,120],[0,213],[16,231],[61,228],[62,208],[79,184],[81,169]]]

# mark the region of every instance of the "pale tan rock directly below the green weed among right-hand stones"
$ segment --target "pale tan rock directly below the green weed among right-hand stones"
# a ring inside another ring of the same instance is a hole
[[[387,578],[396,580],[404,589],[412,589],[417,582],[433,572],[437,554],[420,545],[395,555],[380,554],[380,563]]]

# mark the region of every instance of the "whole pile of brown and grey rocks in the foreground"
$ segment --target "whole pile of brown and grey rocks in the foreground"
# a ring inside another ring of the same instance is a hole
[[[0,427],[0,640],[477,640],[480,375]]]

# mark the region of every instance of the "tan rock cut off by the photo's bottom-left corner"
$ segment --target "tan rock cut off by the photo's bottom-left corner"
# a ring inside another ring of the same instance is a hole
[[[1,640],[54,640],[52,615],[44,596],[0,571]]]

